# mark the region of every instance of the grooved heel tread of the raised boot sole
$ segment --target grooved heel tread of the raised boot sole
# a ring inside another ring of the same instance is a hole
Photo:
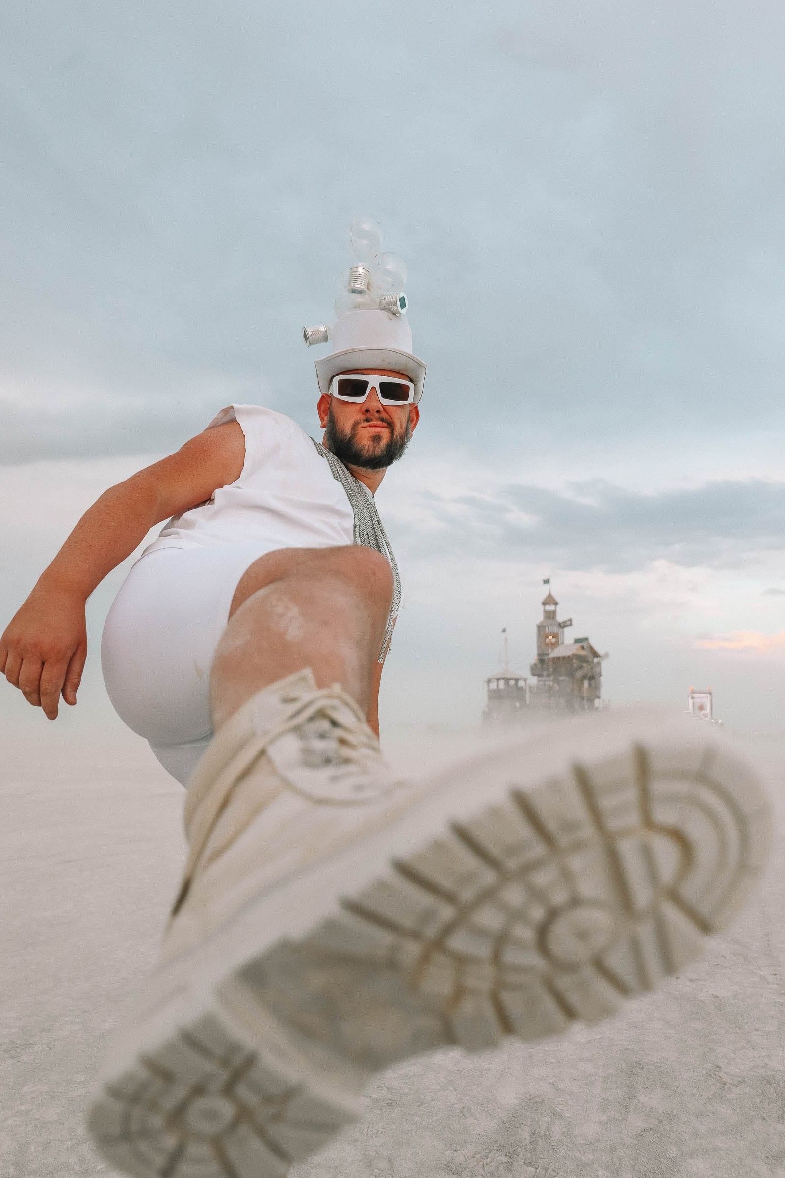
[[[282,1178],[354,1117],[209,1013],[107,1085],[89,1129],[139,1178]]]

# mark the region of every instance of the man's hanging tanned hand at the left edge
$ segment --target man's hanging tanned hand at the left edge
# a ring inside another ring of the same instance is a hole
[[[76,702],[86,657],[85,600],[54,587],[33,589],[0,637],[0,674],[49,720],[61,691]]]

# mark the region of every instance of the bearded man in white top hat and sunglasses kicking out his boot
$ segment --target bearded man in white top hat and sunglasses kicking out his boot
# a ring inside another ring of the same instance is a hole
[[[87,597],[172,517],[101,650],[119,715],[187,786],[161,962],[89,1114],[141,1178],[281,1178],[379,1068],[613,1012],[696,957],[765,858],[754,775],[680,716],[584,716],[415,780],[385,762],[400,580],[374,494],[425,364],[379,307],[332,344],[321,443],[228,406],[99,498],[0,640],[8,682],[54,719]]]

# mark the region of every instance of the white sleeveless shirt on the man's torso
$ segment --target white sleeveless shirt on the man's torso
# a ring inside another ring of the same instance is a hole
[[[278,548],[352,544],[352,505],[305,430],[261,405],[228,405],[207,429],[232,421],[245,434],[240,477],[169,519],[145,554],[235,541],[258,541],[260,556]]]

